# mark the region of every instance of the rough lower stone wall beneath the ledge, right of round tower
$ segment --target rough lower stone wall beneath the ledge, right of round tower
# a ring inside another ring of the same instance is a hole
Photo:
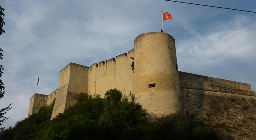
[[[212,126],[224,137],[256,139],[256,97],[181,87],[188,115]],[[223,138],[224,138],[223,137]]]

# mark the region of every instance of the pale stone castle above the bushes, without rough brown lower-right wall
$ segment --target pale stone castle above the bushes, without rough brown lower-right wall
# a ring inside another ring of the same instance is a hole
[[[56,90],[30,98],[28,116],[55,99],[52,119],[76,104],[80,94],[104,97],[114,88],[128,98],[134,95],[136,102],[157,116],[181,111],[202,117],[207,95],[256,99],[250,84],[178,71],[175,39],[151,32],[137,36],[134,48],[116,58],[90,67],[68,64],[60,71]]]

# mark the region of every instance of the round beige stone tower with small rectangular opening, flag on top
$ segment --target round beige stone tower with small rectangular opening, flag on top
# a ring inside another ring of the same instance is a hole
[[[148,112],[183,112],[175,39],[166,33],[140,34],[134,40],[135,101]]]

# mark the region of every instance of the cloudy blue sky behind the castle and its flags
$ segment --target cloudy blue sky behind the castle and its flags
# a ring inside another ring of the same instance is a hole
[[[256,0],[183,0],[256,11]],[[132,49],[134,39],[160,31],[161,11],[173,20],[164,31],[176,40],[180,71],[251,84],[256,91],[256,14],[163,0],[1,0],[6,9],[1,61],[6,94],[12,103],[3,126],[27,117],[36,91],[58,87],[68,63],[86,66]]]

